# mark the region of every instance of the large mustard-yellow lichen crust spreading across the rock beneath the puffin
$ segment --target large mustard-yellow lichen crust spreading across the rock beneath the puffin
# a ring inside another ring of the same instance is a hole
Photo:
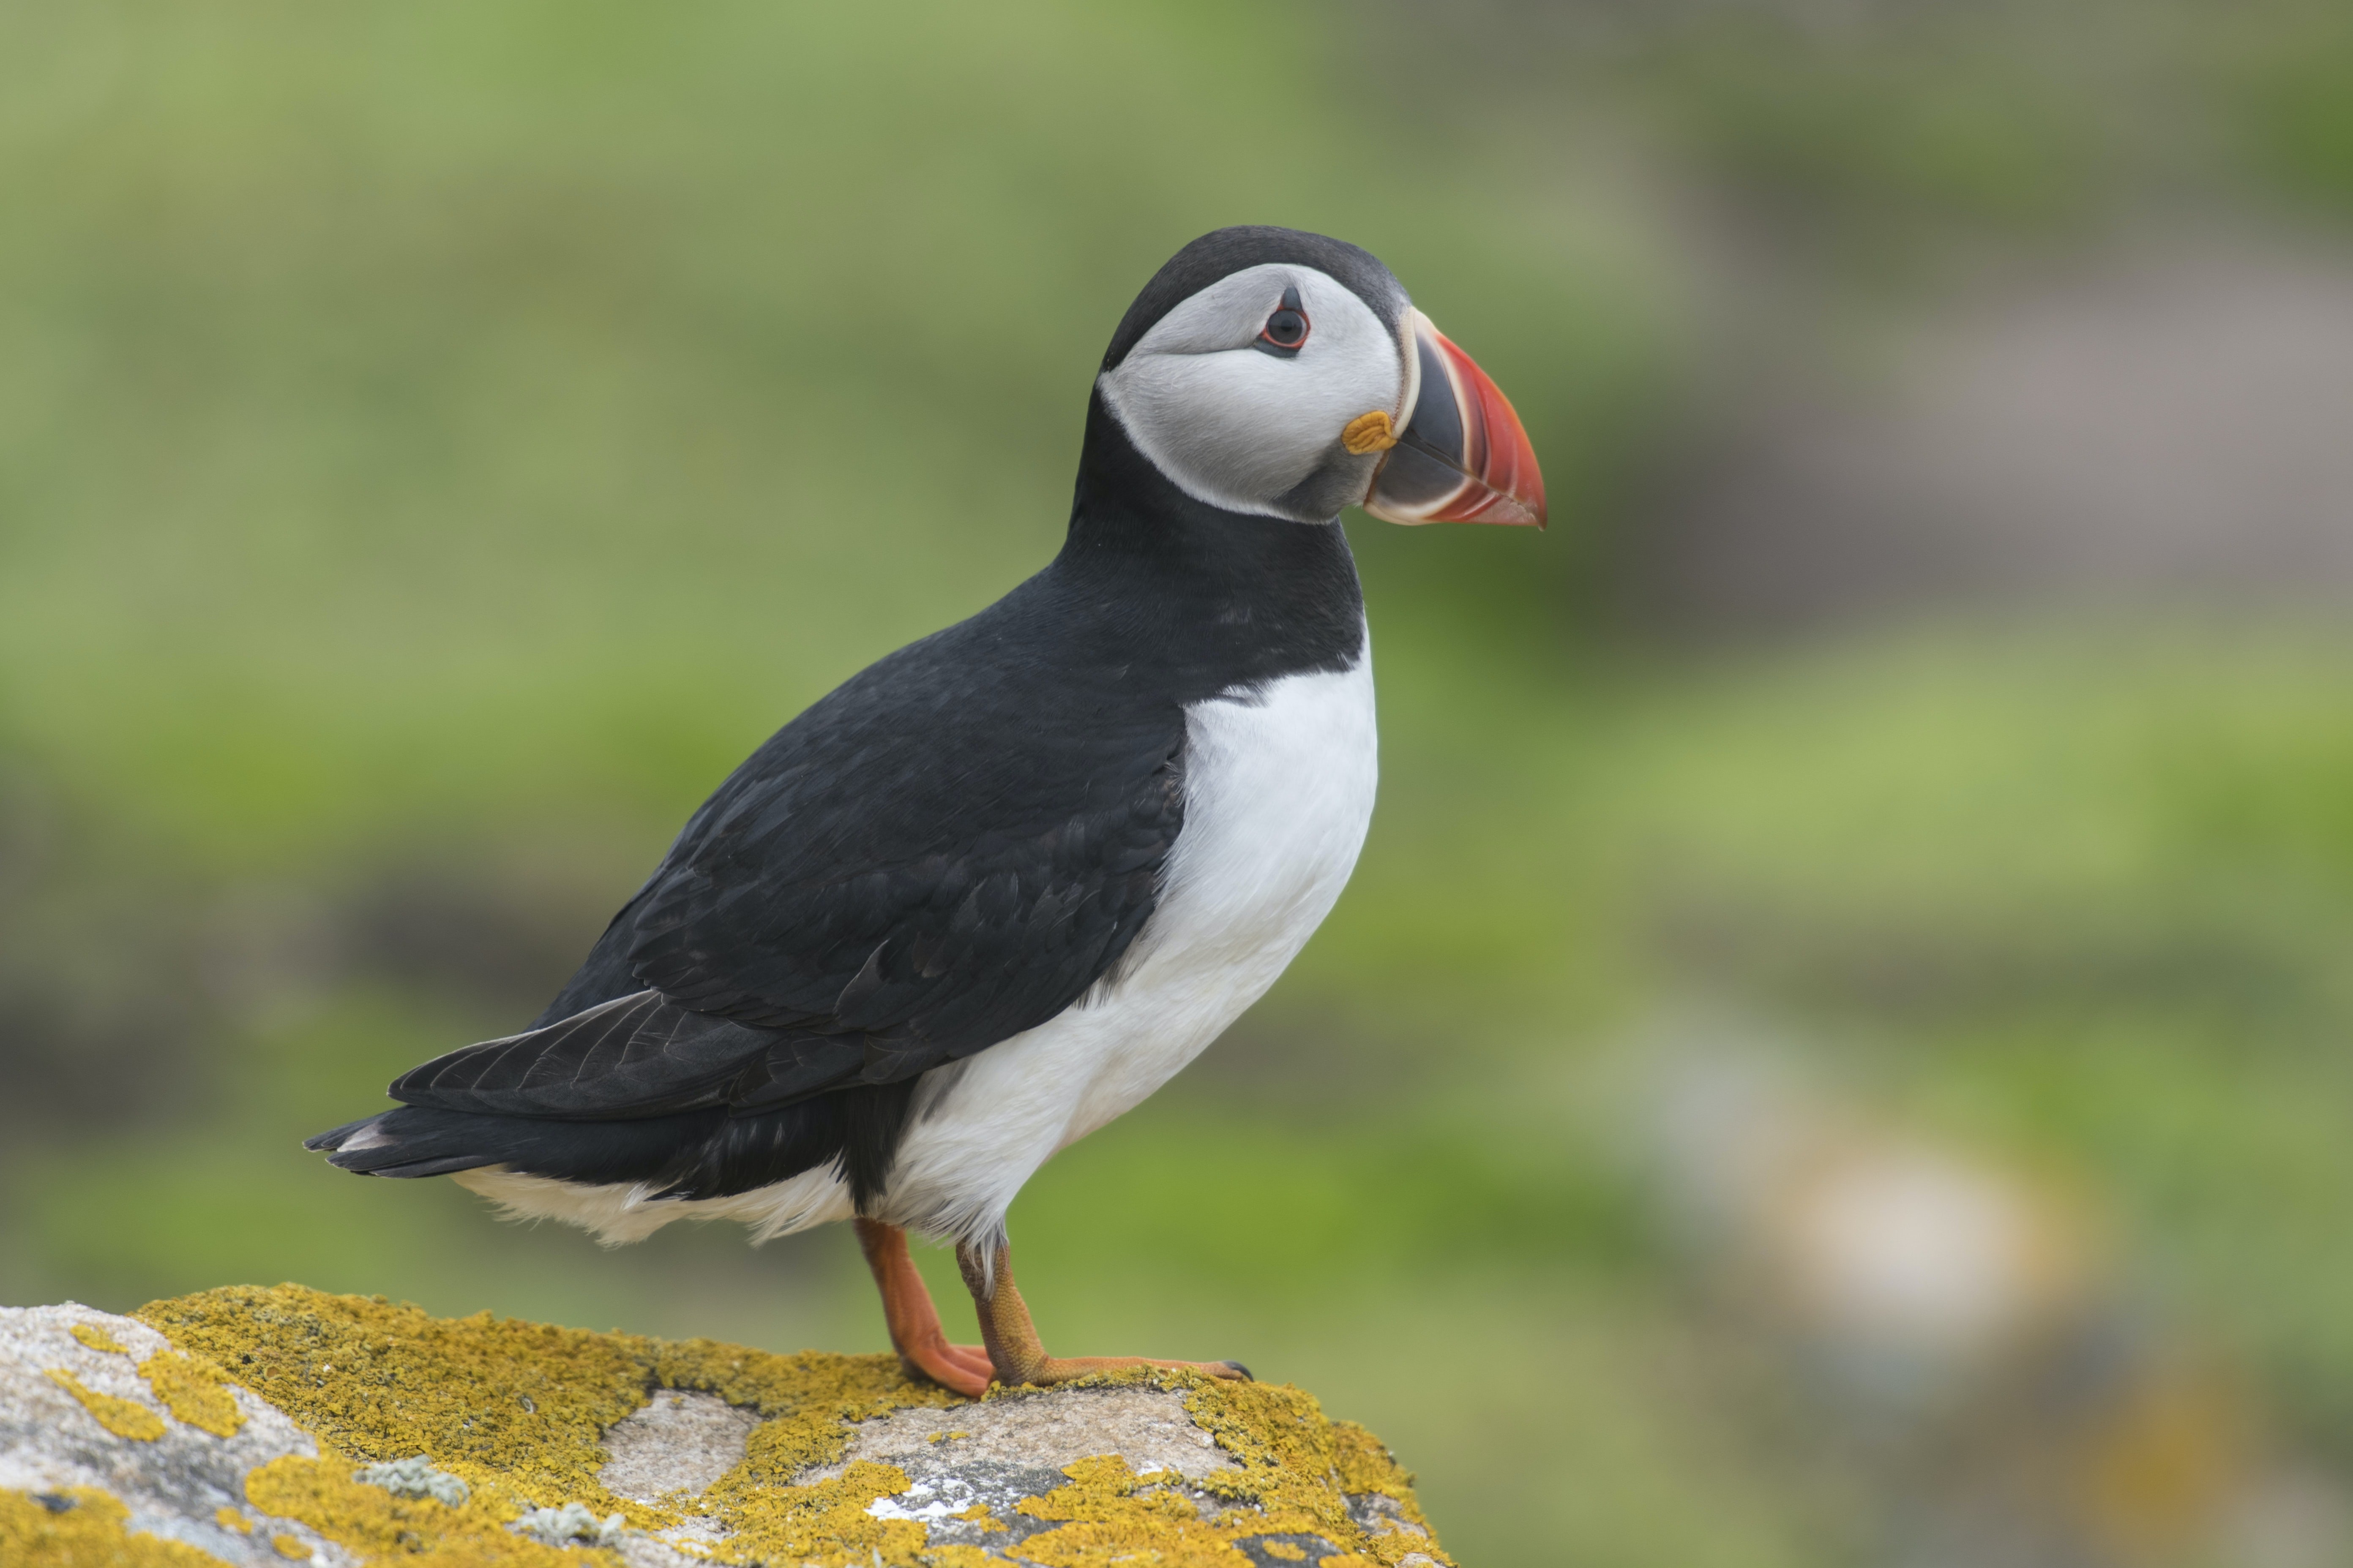
[[[541,1324],[433,1319],[381,1298],[322,1295],[301,1286],[207,1291],[153,1302],[139,1316],[179,1349],[209,1356],[320,1441],[318,1460],[285,1458],[247,1481],[254,1509],[308,1526],[362,1563],[529,1568],[614,1563],[591,1547],[558,1552],[506,1526],[532,1507],[581,1502],[659,1530],[680,1512],[626,1502],[605,1490],[605,1427],[638,1410],[652,1389],[701,1389],[758,1410],[744,1462],[696,1502],[727,1533],[701,1547],[727,1563],[824,1563],[826,1568],[979,1568],[979,1547],[927,1547],[908,1519],[866,1509],[908,1488],[889,1465],[849,1465],[816,1486],[793,1476],[840,1462],[852,1422],[906,1406],[958,1401],[911,1382],[896,1356],[776,1356],[711,1340],[666,1342]],[[1299,1389],[1224,1382],[1191,1371],[1136,1371],[1101,1385],[1179,1389],[1193,1420],[1238,1465],[1200,1483],[1221,1505],[1202,1519],[1167,1472],[1134,1474],[1115,1458],[1068,1467],[1071,1479],[1021,1502],[1054,1528],[1019,1544],[1045,1568],[1078,1568],[1151,1554],[1160,1568],[1240,1568],[1235,1542],[1318,1537],[1329,1568],[1395,1568],[1407,1552],[1449,1563],[1424,1535],[1367,1535],[1344,1493],[1381,1493],[1421,1523],[1412,1476],[1360,1427],[1325,1420]],[[1040,1399],[993,1389],[988,1399]],[[944,1434],[941,1441],[965,1436]],[[464,1507],[407,1502],[351,1479],[360,1462],[424,1453],[473,1486]],[[972,1514],[995,1523],[986,1512]],[[998,1526],[1002,1528],[1002,1526]],[[1278,1544],[1278,1542],[1275,1542]],[[1280,1556],[1280,1554],[1275,1554]]]

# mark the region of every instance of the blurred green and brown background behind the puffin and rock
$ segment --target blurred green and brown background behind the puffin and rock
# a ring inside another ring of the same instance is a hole
[[[1464,1563],[2353,1561],[2348,216],[2318,0],[5,5],[0,1300],[882,1347],[847,1234],[296,1145],[1042,564],[1127,299],[1289,223],[1553,527],[1351,520],[1362,865],[1016,1204],[1047,1340],[1301,1382]],[[1694,1063],[2089,1215],[2073,1284],[1760,1307]]]

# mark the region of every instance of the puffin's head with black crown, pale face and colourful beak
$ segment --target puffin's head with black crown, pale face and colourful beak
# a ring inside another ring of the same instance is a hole
[[[1127,308],[1094,386],[1153,468],[1228,512],[1544,527],[1511,402],[1341,240],[1193,240]]]

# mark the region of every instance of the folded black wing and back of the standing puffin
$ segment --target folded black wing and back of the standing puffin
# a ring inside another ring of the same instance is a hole
[[[393,1098],[501,1117],[753,1114],[896,1084],[1078,1001],[1151,917],[1184,710],[1040,656],[1000,602],[868,668],[694,813],[541,1027]]]

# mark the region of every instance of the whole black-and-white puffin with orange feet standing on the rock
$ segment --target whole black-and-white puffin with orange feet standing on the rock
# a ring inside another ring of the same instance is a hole
[[[1061,552],[779,729],[687,818],[520,1034],[311,1138],[607,1246],[849,1220],[908,1375],[1054,1356],[1005,1215],[1257,1001],[1372,820],[1365,597],[1339,515],[1544,527],[1504,393],[1369,252],[1292,228],[1179,249],[1111,334]],[[955,1248],[981,1345],[908,1234]]]

